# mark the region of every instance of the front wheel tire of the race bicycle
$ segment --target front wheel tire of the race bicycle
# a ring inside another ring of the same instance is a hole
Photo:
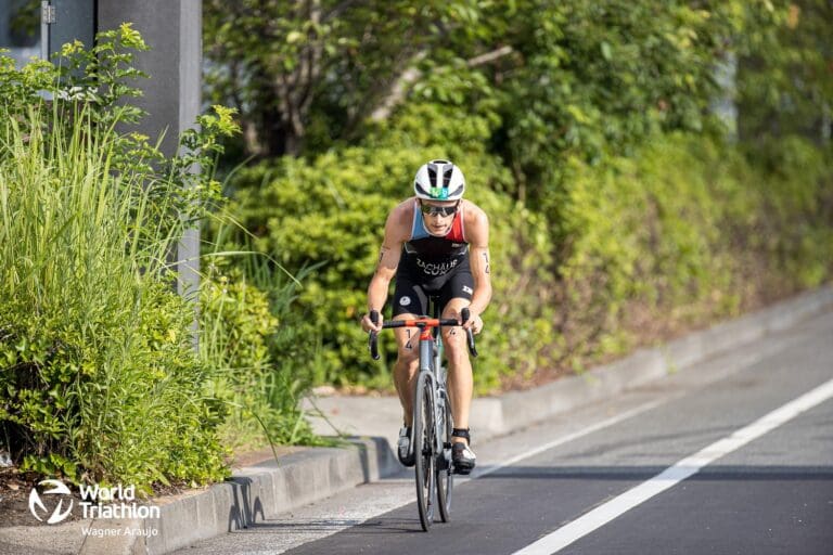
[[[421,373],[416,379],[413,405],[413,454],[415,459],[416,507],[420,524],[428,531],[434,521],[436,499],[436,455],[434,453],[433,382]]]

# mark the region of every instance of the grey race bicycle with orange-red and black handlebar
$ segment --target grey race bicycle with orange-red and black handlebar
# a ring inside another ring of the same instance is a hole
[[[414,389],[413,420],[410,448],[415,456],[416,507],[420,524],[426,532],[434,521],[435,506],[439,518],[448,522],[451,512],[451,490],[454,483],[454,468],[451,459],[451,434],[454,423],[451,415],[451,400],[446,388],[446,367],[443,365],[444,326],[462,325],[454,319],[439,318],[439,302],[431,297],[433,318],[420,317],[412,320],[392,320],[383,328],[416,327],[420,330],[420,371]],[[461,311],[462,321],[469,320],[469,309]],[[379,322],[379,312],[373,310],[370,319]],[[477,357],[474,334],[467,332],[469,352]],[[369,347],[373,360],[379,360],[377,334],[370,332]]]

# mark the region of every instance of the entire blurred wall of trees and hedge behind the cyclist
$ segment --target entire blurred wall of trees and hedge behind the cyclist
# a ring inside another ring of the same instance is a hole
[[[388,384],[354,324],[384,215],[431,157],[463,167],[495,227],[486,318],[511,330],[482,338],[495,358],[476,364],[480,391],[830,275],[830,164],[802,141],[758,141],[830,135],[825,2],[275,4],[286,41],[269,18],[241,34],[226,3],[206,5],[208,92],[243,99],[241,147],[305,156],[239,173],[233,196],[259,248],[323,264],[293,312],[299,337],[321,335],[319,383]],[[758,143],[748,158],[715,139],[729,96]]]

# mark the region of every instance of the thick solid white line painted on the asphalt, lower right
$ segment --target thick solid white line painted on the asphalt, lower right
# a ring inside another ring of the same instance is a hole
[[[780,409],[776,409],[748,426],[734,431],[731,436],[720,439],[693,455],[681,460],[662,474],[598,506],[578,519],[559,528],[551,534],[515,552],[513,555],[551,555],[556,553],[637,505],[691,477],[704,466],[740,449],[749,441],[773,430],[831,397],[833,397],[833,379],[784,404]]]

